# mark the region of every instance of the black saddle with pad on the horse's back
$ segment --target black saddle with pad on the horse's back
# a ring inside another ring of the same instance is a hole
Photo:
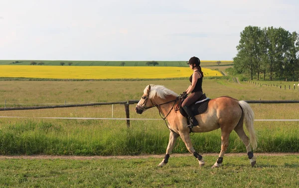
[[[204,113],[208,109],[208,104],[209,104],[210,98],[207,97],[205,94],[203,94],[198,101],[195,103],[191,104],[189,108],[192,110],[194,115],[199,115]],[[181,101],[182,102],[182,101]],[[188,117],[186,114],[185,110],[182,108],[181,105],[179,105],[179,112],[182,114],[184,117]]]

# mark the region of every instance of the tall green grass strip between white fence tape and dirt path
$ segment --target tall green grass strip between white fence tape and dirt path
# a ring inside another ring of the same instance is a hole
[[[5,121],[5,119],[4,119]],[[162,121],[125,120],[18,120],[0,128],[1,155],[140,155],[163,154],[169,130]],[[255,122],[258,149],[255,152],[299,152],[296,122]],[[272,131],[269,131],[272,130]],[[220,130],[191,136],[200,153],[218,153]],[[187,153],[179,139],[174,153]],[[227,153],[246,152],[235,132]]]

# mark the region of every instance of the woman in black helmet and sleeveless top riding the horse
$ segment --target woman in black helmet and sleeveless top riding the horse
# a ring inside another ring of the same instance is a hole
[[[202,78],[203,72],[201,71],[200,60],[197,57],[191,57],[189,62],[189,67],[193,70],[193,74],[190,76],[189,81],[191,85],[188,87],[186,92],[182,94],[182,97],[186,97],[182,102],[182,107],[189,116],[190,125],[188,127],[192,128],[193,126],[197,126],[198,122],[194,117],[192,110],[189,108],[191,104],[196,102],[202,93]],[[189,96],[187,96],[189,94]]]

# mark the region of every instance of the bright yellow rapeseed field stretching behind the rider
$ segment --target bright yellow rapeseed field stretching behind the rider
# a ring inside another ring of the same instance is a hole
[[[220,72],[202,69],[204,76],[222,76]],[[189,77],[188,67],[102,67],[0,65],[0,77],[45,79],[160,79]]]

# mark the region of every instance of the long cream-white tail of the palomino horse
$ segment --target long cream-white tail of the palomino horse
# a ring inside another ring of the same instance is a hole
[[[256,149],[258,146],[258,143],[257,143],[256,133],[255,133],[254,127],[253,127],[254,112],[253,112],[252,108],[250,107],[250,105],[247,102],[245,102],[244,100],[240,100],[239,105],[243,109],[244,123],[249,132],[251,146],[253,149]]]

